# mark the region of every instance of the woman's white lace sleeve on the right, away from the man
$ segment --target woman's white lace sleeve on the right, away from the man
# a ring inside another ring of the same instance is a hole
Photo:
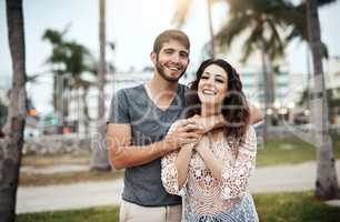
[[[240,196],[247,189],[251,171],[256,167],[257,137],[249,127],[246,140],[240,144],[234,165],[222,169],[222,198]]]

